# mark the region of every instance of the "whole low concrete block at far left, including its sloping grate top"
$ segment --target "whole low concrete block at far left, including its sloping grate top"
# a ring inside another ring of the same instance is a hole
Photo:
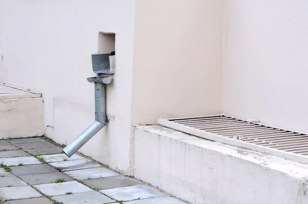
[[[0,138],[43,135],[43,116],[41,93],[0,84]]]

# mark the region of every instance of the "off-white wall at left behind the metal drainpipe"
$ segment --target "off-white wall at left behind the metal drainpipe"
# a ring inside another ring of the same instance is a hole
[[[91,53],[99,32],[117,33],[113,120],[81,152],[129,174],[134,1],[1,0],[0,9],[0,80],[43,93],[46,134],[63,144],[94,121]]]

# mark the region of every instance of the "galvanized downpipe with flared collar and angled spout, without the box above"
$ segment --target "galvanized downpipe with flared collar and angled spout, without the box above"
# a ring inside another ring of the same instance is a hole
[[[106,126],[106,84],[111,82],[112,77],[90,77],[87,80],[90,83],[94,83],[95,121],[62,150],[68,157],[71,157],[89,139]]]

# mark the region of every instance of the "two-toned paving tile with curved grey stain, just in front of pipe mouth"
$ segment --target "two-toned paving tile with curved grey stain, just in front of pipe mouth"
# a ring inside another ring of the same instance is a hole
[[[61,171],[70,171],[78,169],[87,169],[93,167],[101,167],[101,165],[94,163],[89,159],[78,159],[71,161],[59,161],[49,163],[50,166],[60,169]]]

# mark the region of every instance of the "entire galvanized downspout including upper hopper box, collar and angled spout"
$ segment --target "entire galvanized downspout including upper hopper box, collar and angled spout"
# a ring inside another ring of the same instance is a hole
[[[105,59],[106,54],[92,54],[92,67],[95,73],[114,73],[114,69],[110,72],[111,69],[109,69],[109,62],[107,65],[108,69],[103,67],[103,65],[106,65]],[[98,66],[101,66],[100,71],[97,70]],[[84,146],[86,142],[89,141],[89,139],[91,139],[95,134],[97,134],[102,128],[106,126],[106,85],[111,82],[112,77],[96,76],[89,77],[87,80],[89,83],[94,83],[95,121],[62,150],[68,157],[71,157],[76,151]]]

